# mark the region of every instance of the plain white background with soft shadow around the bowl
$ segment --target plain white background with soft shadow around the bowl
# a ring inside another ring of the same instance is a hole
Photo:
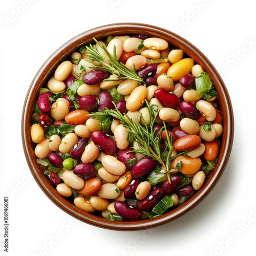
[[[251,0],[1,0],[0,254],[255,255],[255,7]],[[189,40],[221,73],[233,104],[233,148],[218,184],[183,217],[147,231],[101,229],[60,210],[30,175],[21,140],[24,99],[42,63],[75,35],[119,22],[156,25]]]

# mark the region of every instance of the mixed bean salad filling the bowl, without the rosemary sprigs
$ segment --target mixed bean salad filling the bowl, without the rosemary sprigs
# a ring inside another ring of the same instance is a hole
[[[59,64],[35,102],[34,153],[49,182],[77,208],[109,220],[156,218],[193,196],[214,169],[223,131],[218,95],[212,84],[200,89],[211,83],[208,74],[162,38],[125,35],[99,44],[142,82],[93,67],[81,47]],[[118,118],[92,115],[106,109],[144,127],[150,111],[158,113],[153,127],[161,152],[165,141],[172,143],[169,177]]]

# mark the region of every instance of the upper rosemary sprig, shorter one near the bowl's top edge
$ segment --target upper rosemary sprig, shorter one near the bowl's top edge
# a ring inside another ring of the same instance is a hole
[[[109,58],[110,64],[107,63],[104,58],[100,55],[98,49],[95,45],[87,46],[90,59],[96,60],[101,63],[102,66],[97,65],[92,60],[87,60],[88,62],[93,64],[94,69],[102,69],[110,72],[111,74],[115,74],[117,79],[105,79],[104,81],[119,81],[122,79],[131,79],[137,81],[139,84],[144,83],[143,79],[137,75],[135,68],[133,70],[127,68],[123,63],[119,62],[116,56],[116,46],[114,46],[114,56],[112,56],[108,50],[104,46],[102,46],[95,38],[93,38],[95,42],[99,45],[99,47],[104,51],[105,55]]]

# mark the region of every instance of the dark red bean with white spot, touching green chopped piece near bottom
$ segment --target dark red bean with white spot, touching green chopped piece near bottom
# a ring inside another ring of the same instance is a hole
[[[164,192],[163,189],[157,187],[153,189],[150,194],[148,194],[147,198],[140,201],[138,204],[139,210],[149,210],[157,205],[157,203],[163,198]]]

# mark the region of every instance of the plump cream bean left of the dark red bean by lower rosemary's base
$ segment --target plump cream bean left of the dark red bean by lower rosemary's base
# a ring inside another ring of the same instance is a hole
[[[125,165],[111,155],[102,157],[101,163],[107,172],[114,175],[122,175],[126,170]]]

